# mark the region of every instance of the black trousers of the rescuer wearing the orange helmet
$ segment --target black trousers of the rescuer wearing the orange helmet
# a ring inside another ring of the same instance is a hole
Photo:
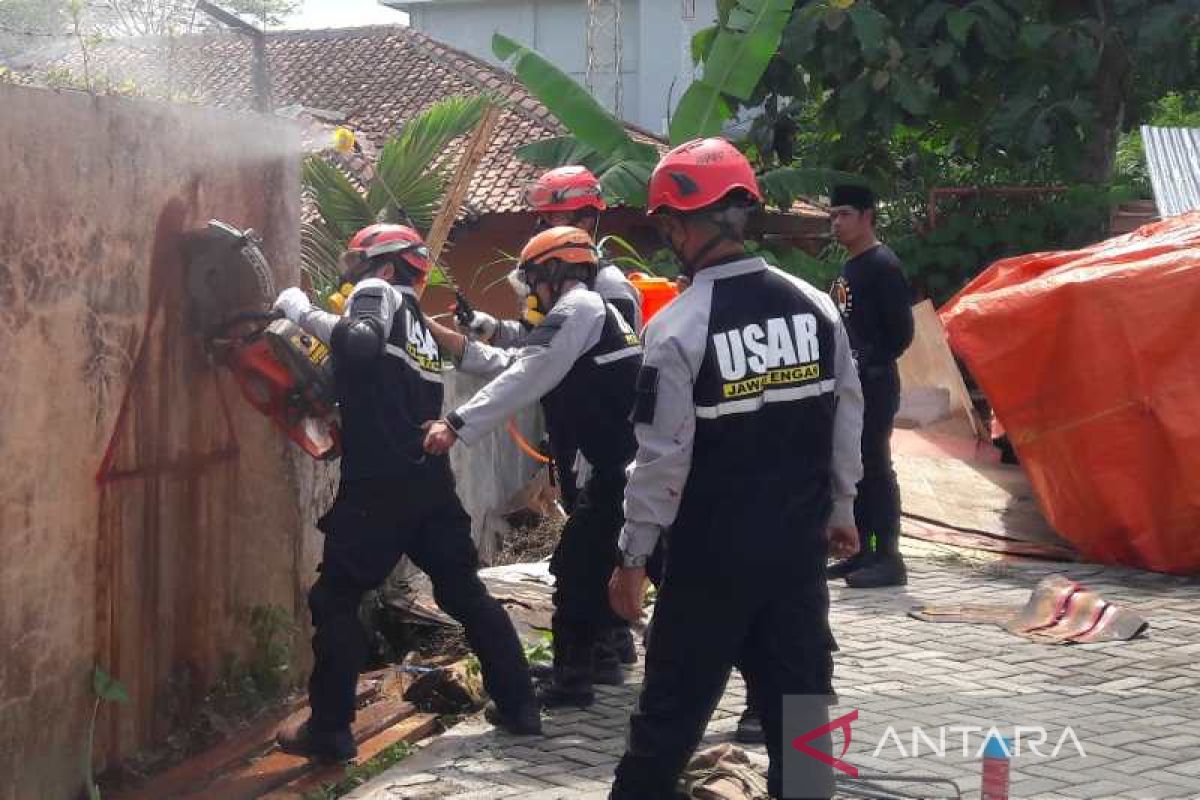
[[[550,559],[556,663],[566,657],[571,666],[589,668],[600,634],[623,622],[608,602],[608,578],[619,558],[624,493],[623,470],[593,473]]]

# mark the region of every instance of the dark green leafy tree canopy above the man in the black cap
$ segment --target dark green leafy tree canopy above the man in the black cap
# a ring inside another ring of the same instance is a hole
[[[1198,41],[1198,0],[817,0],[746,104],[768,107],[760,145],[814,106],[847,168],[896,173],[907,128],[983,169],[1104,182],[1120,132],[1195,85]]]

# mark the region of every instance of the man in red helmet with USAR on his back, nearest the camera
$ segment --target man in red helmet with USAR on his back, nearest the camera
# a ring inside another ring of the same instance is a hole
[[[650,176],[648,213],[690,285],[647,325],[637,379],[619,614],[640,616],[662,536],[667,555],[616,800],[677,796],[736,661],[761,704],[772,796],[782,696],[832,692],[824,561],[857,543],[862,393],[829,296],[746,254],[761,200],[724,139],[673,149]],[[818,777],[806,796],[828,796],[832,774]]]

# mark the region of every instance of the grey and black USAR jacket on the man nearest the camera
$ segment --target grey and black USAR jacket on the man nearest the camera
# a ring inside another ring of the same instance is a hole
[[[761,491],[739,486],[786,486],[853,527],[863,395],[826,293],[761,258],[712,266],[650,320],[644,348],[626,563],[649,555],[689,498],[727,492],[763,513]]]

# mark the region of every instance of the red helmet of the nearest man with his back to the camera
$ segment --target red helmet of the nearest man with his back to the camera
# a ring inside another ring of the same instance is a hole
[[[738,188],[762,203],[754,167],[737,148],[725,139],[694,139],[662,156],[654,168],[646,212],[696,211]]]

